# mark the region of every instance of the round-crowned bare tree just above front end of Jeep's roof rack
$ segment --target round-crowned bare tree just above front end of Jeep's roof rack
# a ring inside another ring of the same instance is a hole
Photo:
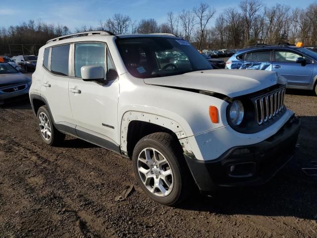
[[[131,18],[127,15],[114,14],[106,21],[106,29],[115,35],[126,34],[129,30]]]

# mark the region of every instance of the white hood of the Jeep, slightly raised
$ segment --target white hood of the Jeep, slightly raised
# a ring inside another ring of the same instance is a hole
[[[144,82],[158,86],[210,91],[233,98],[260,91],[277,83],[286,84],[286,79],[270,71],[217,69],[145,78]]]

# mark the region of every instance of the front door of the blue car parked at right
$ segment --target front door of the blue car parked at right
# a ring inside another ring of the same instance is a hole
[[[276,49],[273,53],[272,70],[284,76],[287,79],[288,86],[309,85],[314,70],[312,60],[291,50]],[[296,63],[296,59],[300,57],[306,59],[305,65]]]

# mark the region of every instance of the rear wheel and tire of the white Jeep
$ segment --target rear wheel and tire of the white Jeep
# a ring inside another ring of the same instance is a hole
[[[55,146],[64,141],[65,134],[59,132],[55,128],[47,106],[42,106],[39,108],[37,120],[41,138],[46,144]]]

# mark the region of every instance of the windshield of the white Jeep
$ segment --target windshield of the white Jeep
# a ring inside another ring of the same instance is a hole
[[[178,38],[118,38],[116,43],[128,71],[138,78],[212,69],[211,64],[194,47]]]

